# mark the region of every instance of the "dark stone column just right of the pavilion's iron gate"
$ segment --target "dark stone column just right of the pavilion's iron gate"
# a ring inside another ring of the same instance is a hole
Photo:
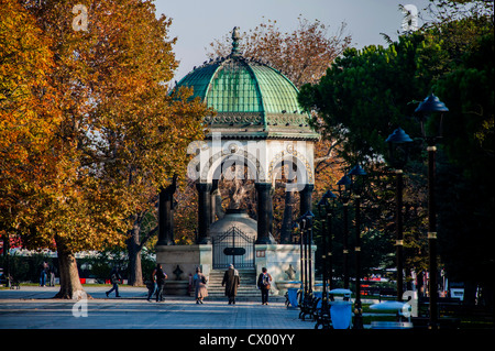
[[[270,244],[273,222],[272,183],[256,183],[257,191],[257,240],[256,244]]]

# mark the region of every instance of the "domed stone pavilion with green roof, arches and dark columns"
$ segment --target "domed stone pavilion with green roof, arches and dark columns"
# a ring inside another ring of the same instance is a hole
[[[188,177],[196,180],[198,190],[197,243],[180,249],[173,245],[172,210],[168,208],[173,193],[161,194],[161,208],[167,209],[160,211],[157,261],[165,270],[179,265],[184,272],[194,272],[194,267],[202,266],[207,274],[223,270],[231,261],[243,262],[242,256],[249,255],[252,260],[248,260],[242,268],[261,271],[262,265],[273,265],[272,275],[282,281],[283,267],[298,266],[299,251],[298,245],[277,244],[271,234],[271,191],[275,180],[282,178],[282,167],[288,165],[292,179],[286,189],[299,191],[301,213],[310,210],[314,145],[319,134],[308,125],[308,116],[297,102],[298,90],[294,84],[275,68],[243,57],[239,40],[239,31],[234,28],[230,55],[205,62],[177,84],[177,88],[193,88],[194,97],[211,107],[215,113],[204,119],[206,139],[193,143],[187,151],[195,156],[188,166]],[[242,211],[230,211],[215,221],[212,194],[222,173],[233,165],[246,167],[248,172],[243,174],[254,180],[257,218],[246,219]],[[237,223],[235,218],[250,222],[251,228],[255,226],[255,232],[243,233],[239,228],[245,223]],[[211,232],[215,228],[222,228],[224,232]],[[232,243],[220,244],[222,238]],[[238,244],[233,246],[235,239]],[[224,254],[216,253],[220,248]],[[222,254],[222,260],[216,259]],[[282,256],[285,262],[277,262]],[[282,265],[275,270],[276,264]]]

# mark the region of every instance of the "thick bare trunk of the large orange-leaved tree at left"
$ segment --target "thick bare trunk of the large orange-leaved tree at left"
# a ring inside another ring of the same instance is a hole
[[[57,242],[58,265],[61,272],[61,290],[55,298],[80,299],[88,297],[79,281],[76,257],[73,252]]]

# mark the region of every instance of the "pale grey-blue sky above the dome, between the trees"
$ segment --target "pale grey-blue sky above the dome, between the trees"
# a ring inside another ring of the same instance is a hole
[[[180,80],[207,59],[207,47],[234,26],[248,32],[262,22],[276,20],[282,32],[297,29],[298,17],[319,20],[336,33],[346,23],[352,46],[386,45],[380,33],[397,39],[404,13],[399,4],[413,4],[421,13],[429,0],[155,0],[156,15],[172,18],[169,36],[177,37],[174,53],[179,61],[175,80]],[[419,20],[419,25],[422,22]]]

